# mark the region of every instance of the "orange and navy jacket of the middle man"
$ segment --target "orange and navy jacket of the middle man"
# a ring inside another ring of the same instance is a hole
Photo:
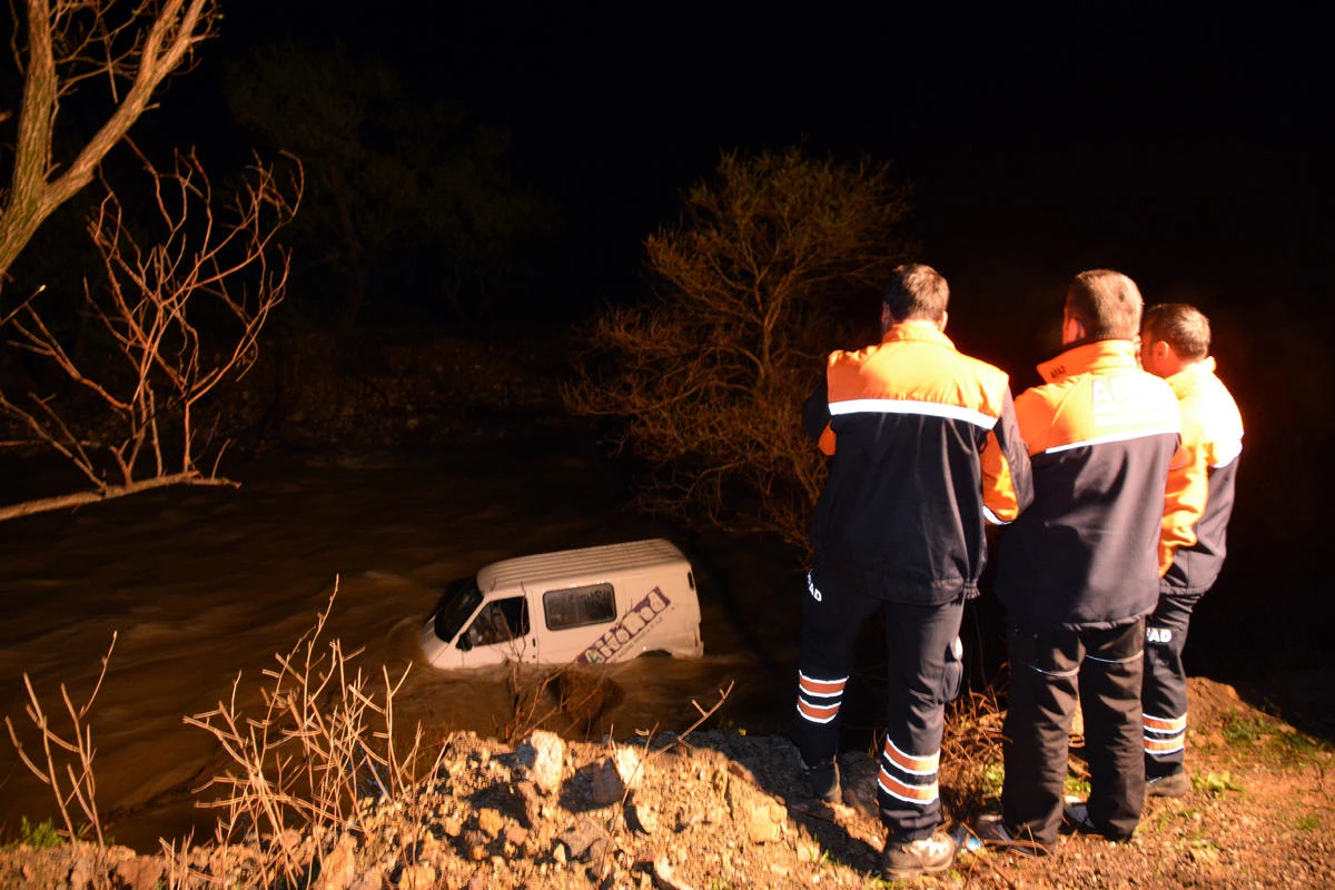
[[[1125,624],[1159,602],[1177,399],[1129,340],[1073,346],[1039,374],[1015,400],[1033,504],[1007,530],[997,595],[1021,626]]]

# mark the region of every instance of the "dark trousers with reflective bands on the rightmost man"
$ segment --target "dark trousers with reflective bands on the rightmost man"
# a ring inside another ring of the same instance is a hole
[[[1145,678],[1140,690],[1145,777],[1181,771],[1187,743],[1187,646],[1191,610],[1200,594],[1160,595],[1145,622]]]

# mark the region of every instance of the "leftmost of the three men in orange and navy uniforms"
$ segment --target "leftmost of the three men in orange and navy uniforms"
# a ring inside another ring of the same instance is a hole
[[[1008,376],[945,336],[949,287],[901,266],[885,287],[881,342],[829,355],[804,408],[832,455],[816,504],[814,564],[802,608],[793,741],[812,793],[840,799],[838,714],[862,624],[880,612],[888,727],[877,802],[893,878],[949,867],[937,831],[944,707],[959,694],[964,602],[977,595],[985,515],[1008,520],[1032,499],[1029,459]]]

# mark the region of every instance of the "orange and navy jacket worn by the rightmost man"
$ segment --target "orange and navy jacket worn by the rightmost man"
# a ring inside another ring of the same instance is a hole
[[[1224,564],[1238,456],[1243,451],[1243,418],[1234,396],[1215,376],[1212,358],[1183,368],[1167,383],[1181,408],[1184,455],[1168,471],[1168,490],[1208,494],[1200,508],[1179,508],[1164,516],[1164,540],[1159,546],[1164,576],[1159,592],[1203,594],[1215,584]]]

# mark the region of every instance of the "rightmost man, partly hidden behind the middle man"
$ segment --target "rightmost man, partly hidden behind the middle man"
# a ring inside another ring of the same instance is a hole
[[[1181,664],[1191,612],[1224,563],[1224,539],[1234,508],[1243,420],[1238,404],[1215,376],[1210,319],[1185,303],[1151,307],[1140,330],[1140,366],[1168,382],[1181,410],[1185,460],[1173,463],[1169,487],[1207,492],[1195,523],[1168,516],[1160,544],[1164,571],[1159,604],[1145,630],[1144,711],[1145,794],[1181,797],[1191,789],[1183,769],[1187,738],[1187,673]],[[1197,504],[1191,504],[1196,515]]]

